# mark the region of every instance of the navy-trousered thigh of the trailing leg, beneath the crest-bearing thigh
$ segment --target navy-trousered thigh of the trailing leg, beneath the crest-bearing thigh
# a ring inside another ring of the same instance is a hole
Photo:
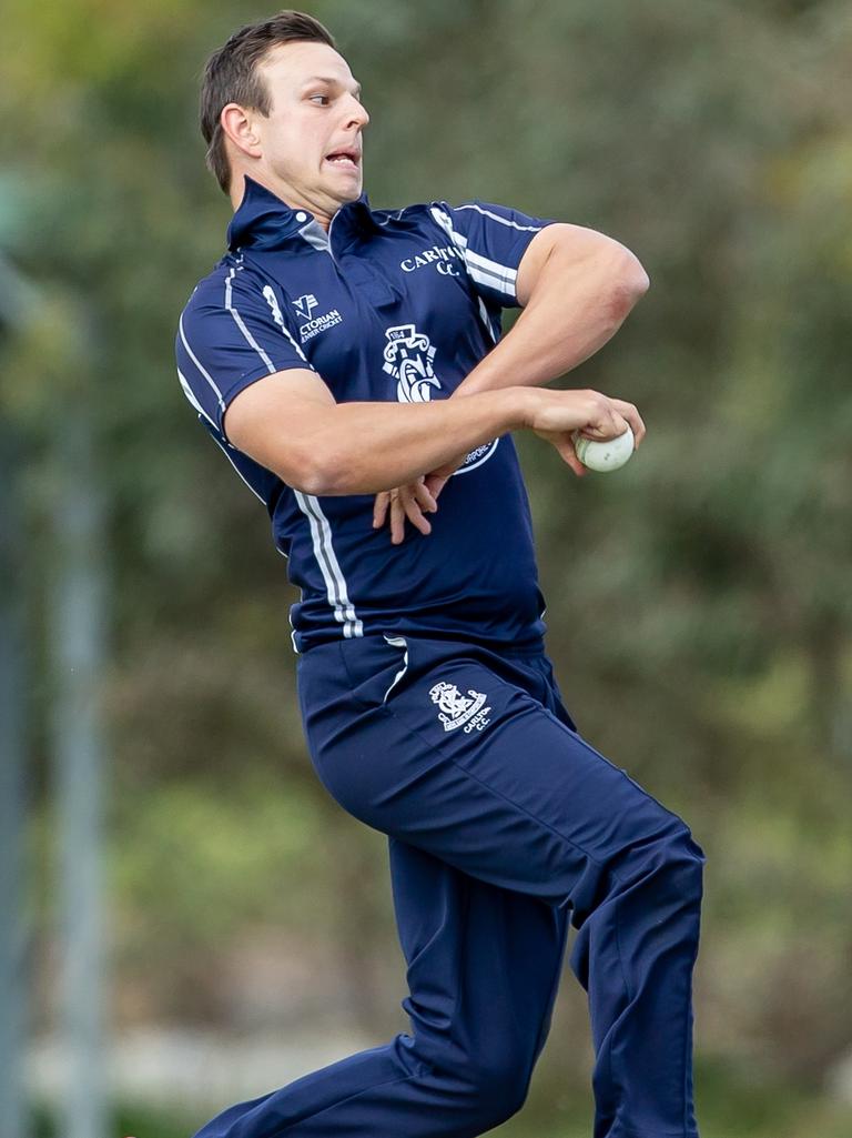
[[[390,839],[417,1054],[529,1073],[547,1036],[568,914]]]

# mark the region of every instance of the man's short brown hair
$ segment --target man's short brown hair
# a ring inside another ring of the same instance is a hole
[[[222,109],[229,102],[238,102],[241,107],[268,115],[272,100],[266,84],[257,74],[257,65],[279,43],[296,40],[316,40],[337,50],[331,32],[319,19],[303,11],[286,9],[234,32],[205,65],[199,114],[201,134],[207,143],[207,166],[225,193],[231,184],[231,164],[220,123]]]

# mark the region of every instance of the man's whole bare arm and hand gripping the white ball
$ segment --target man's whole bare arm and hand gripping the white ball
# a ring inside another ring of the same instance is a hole
[[[635,409],[596,391],[506,387],[430,403],[336,403],[308,369],[266,376],[225,412],[230,442],[295,489],[375,494],[522,427],[570,448],[584,429],[613,438]],[[642,430],[642,421],[631,421]]]

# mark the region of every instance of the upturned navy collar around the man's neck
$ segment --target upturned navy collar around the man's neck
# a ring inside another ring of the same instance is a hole
[[[253,178],[247,176],[245,181],[242,201],[228,226],[229,249],[242,246],[279,249],[298,238],[306,225],[319,226],[319,222],[307,209],[293,209]],[[332,222],[337,222],[336,229],[344,225],[364,230],[380,228],[373,217],[366,193],[362,193],[355,201],[347,201],[340,206]]]

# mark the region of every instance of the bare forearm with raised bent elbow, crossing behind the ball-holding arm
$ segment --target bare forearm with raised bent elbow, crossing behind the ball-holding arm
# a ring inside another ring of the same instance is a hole
[[[455,394],[540,387],[603,347],[647,288],[639,262],[623,246],[611,245],[581,261],[554,248],[514,327]]]

